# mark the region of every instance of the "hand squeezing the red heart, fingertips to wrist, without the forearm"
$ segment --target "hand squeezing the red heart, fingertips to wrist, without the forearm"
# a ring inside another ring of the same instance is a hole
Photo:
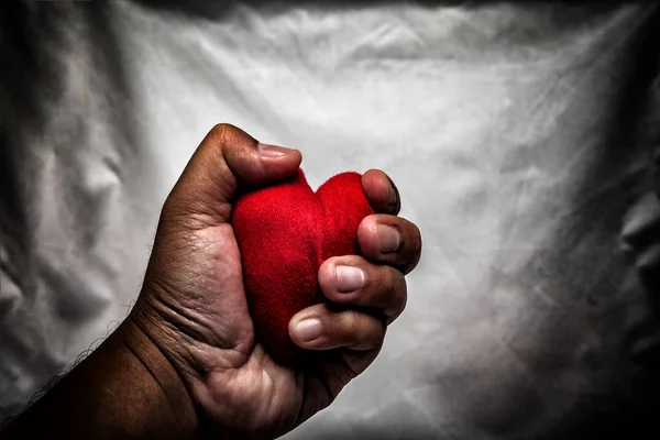
[[[240,438],[288,432],[332,403],[374,361],[386,326],[405,307],[404,275],[421,250],[417,227],[395,217],[396,187],[383,172],[365,173],[363,188],[378,213],[360,224],[364,256],[329,258],[318,274],[323,294],[341,306],[309,307],[289,324],[293,341],[316,351],[318,362],[305,371],[275,363],[255,339],[230,219],[242,187],[293,175],[301,155],[258,150],[254,139],[231,125],[217,125],[202,141],[163,207],[130,315],[178,372],[204,426]],[[364,285],[348,286],[353,278],[344,275],[338,283],[338,266],[360,268]]]

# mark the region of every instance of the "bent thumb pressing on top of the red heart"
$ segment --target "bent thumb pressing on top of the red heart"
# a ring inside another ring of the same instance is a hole
[[[218,124],[201,141],[165,201],[169,215],[227,223],[243,187],[261,187],[293,175],[298,150],[264,145],[241,129]]]

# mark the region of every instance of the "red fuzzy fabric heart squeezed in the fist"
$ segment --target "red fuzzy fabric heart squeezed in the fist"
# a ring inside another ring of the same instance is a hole
[[[277,185],[243,194],[232,223],[256,336],[273,359],[294,364],[304,351],[288,322],[323,300],[318,271],[330,256],[358,254],[358,227],[374,213],[361,175],[333,176],[315,194],[302,169]]]

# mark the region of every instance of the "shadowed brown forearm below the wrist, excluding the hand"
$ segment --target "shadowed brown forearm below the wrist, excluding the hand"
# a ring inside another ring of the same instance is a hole
[[[1,437],[193,439],[198,429],[176,371],[128,319]]]

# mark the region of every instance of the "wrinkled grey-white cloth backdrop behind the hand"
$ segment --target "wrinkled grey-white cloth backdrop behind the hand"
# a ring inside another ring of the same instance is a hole
[[[125,317],[230,122],[314,189],[382,168],[424,239],[378,360],[287,439],[653,428],[658,7],[3,2],[2,413]]]

